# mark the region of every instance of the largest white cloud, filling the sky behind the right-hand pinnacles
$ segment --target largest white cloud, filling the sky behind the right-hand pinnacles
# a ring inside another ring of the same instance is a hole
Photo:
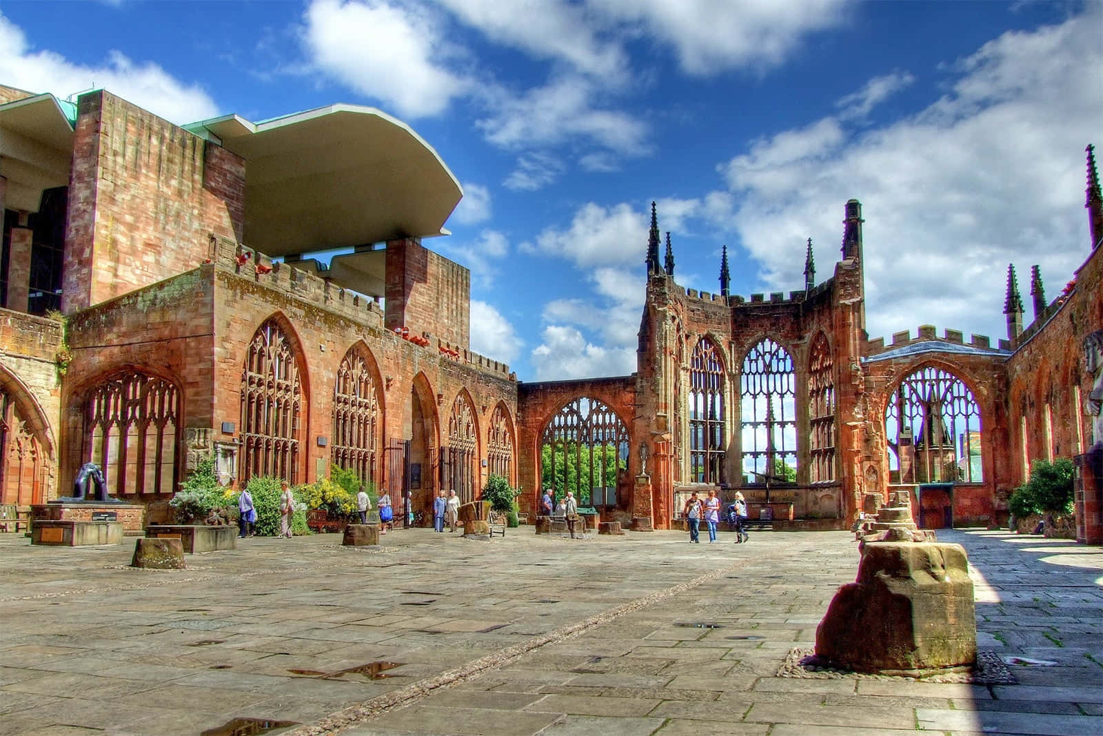
[[[867,221],[874,337],[914,330],[918,319],[1000,337],[1009,262],[1020,288],[1041,265],[1056,296],[1086,256],[1083,147],[1103,117],[1100,10],[1005,33],[947,65],[952,92],[915,115],[860,132],[824,118],[722,166],[764,286],[799,286],[808,236],[818,278],[829,276],[854,196]]]

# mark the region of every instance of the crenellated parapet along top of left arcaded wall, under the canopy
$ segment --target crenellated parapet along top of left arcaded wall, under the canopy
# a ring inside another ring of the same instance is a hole
[[[356,323],[378,330],[384,329],[383,309],[371,297],[335,286],[324,278],[296,268],[293,263],[272,263],[271,258],[259,250],[239,245],[229,238],[212,236],[211,243],[214,263],[233,270],[242,278],[278,289]],[[453,345],[443,339],[435,338],[429,332],[415,334],[406,328],[399,328],[394,330],[394,335],[396,339],[438,354],[440,360],[453,361],[483,373],[516,381],[516,375],[511,373],[508,364]]]

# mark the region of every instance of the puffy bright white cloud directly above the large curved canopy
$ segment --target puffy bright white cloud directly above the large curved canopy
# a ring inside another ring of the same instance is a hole
[[[319,70],[400,116],[439,115],[471,84],[449,68],[459,51],[424,6],[314,0],[304,23]]]

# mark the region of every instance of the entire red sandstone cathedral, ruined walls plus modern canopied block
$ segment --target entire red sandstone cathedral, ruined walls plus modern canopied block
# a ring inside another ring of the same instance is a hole
[[[105,90],[0,87],[2,502],[67,495],[96,462],[151,523],[213,457],[226,484],[350,468],[413,511],[496,473],[523,510],[574,490],[644,530],[707,489],[775,529],[839,529],[903,486],[938,527],[1003,523],[1031,460],[1079,457],[1078,531],[1100,544],[1091,152],[1088,173],[1083,265],[1051,300],[1034,269],[1026,329],[1009,268],[996,344],[869,340],[856,200],[831,278],[810,247],[802,290],[746,299],[726,257],[718,294],[678,286],[653,209],[636,373],[522,383],[469,349],[470,274],[422,245],[462,191],[401,121],[334,105],[178,127]]]

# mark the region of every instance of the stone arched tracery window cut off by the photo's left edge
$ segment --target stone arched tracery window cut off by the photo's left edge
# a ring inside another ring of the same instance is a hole
[[[55,448],[39,402],[0,365],[0,503],[45,503],[54,491]]]

